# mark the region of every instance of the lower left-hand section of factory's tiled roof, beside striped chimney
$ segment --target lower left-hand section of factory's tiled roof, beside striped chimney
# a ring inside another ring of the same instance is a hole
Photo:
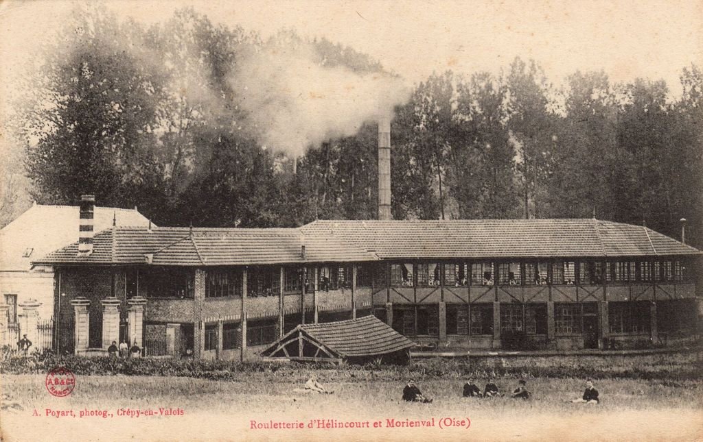
[[[308,238],[299,229],[117,227],[96,234],[91,255],[78,255],[78,244],[73,243],[34,264],[198,266],[370,260],[378,257],[335,237]]]

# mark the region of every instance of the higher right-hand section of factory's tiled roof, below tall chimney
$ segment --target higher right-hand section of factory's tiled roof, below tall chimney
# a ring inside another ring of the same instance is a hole
[[[694,255],[699,250],[652,229],[562,220],[318,220],[308,235],[335,236],[382,259]]]

